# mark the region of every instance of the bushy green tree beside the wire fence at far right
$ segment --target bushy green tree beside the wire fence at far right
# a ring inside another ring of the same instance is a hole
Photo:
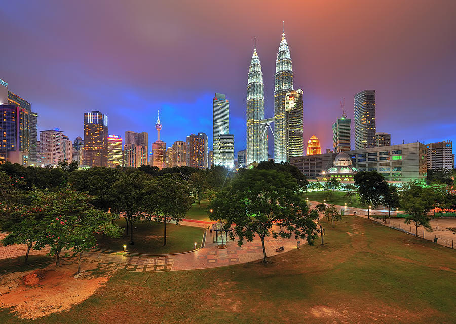
[[[428,213],[434,208],[439,197],[432,188],[423,188],[416,181],[408,182],[403,188],[400,202],[405,213],[409,215],[405,218],[405,223],[413,222],[415,224],[416,236],[418,236],[418,227],[420,226],[431,231]]]

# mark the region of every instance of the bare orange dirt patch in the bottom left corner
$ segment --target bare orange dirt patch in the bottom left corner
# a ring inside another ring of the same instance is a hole
[[[19,318],[35,319],[79,304],[108,281],[111,267],[99,271],[97,262],[83,262],[83,275],[75,279],[77,265],[64,262],[59,268],[15,272],[0,278],[0,308],[10,308]],[[96,270],[96,271],[95,271]],[[102,274],[95,274],[102,273]]]

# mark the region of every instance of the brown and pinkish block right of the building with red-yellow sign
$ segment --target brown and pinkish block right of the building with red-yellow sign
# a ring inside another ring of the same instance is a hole
[[[160,119],[160,118],[159,118]],[[126,167],[138,168],[142,165],[147,165],[147,132],[125,132],[124,165]]]

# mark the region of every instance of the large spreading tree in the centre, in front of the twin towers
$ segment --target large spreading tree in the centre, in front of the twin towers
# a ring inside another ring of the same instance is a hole
[[[275,170],[249,169],[238,175],[217,194],[208,207],[211,220],[224,220],[224,229],[233,227],[231,238],[253,241],[258,235],[267,262],[264,239],[284,237],[307,239],[317,237],[318,212],[310,211],[296,180],[288,173]],[[273,228],[275,226],[275,228]]]

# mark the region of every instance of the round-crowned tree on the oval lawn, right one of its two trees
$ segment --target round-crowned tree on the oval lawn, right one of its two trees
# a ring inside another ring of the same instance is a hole
[[[167,176],[158,177],[149,181],[145,198],[147,211],[155,221],[164,224],[164,240],[166,245],[166,223],[174,221],[176,224],[182,221],[187,211],[192,207],[191,189],[184,181],[171,179]]]

